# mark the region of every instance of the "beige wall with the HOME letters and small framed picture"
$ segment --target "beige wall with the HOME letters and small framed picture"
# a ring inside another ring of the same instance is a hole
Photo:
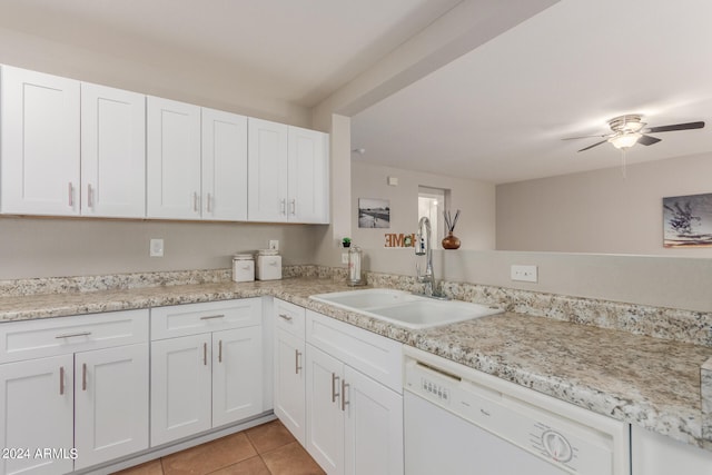
[[[388,186],[387,177],[396,177],[398,186]],[[494,185],[364,164],[358,158],[352,160],[350,237],[354,243],[364,249],[382,249],[386,232],[416,232],[418,186],[451,190],[452,212],[458,208],[463,211],[455,228],[462,249],[494,249]],[[390,228],[358,228],[358,198],[389,200]]]

